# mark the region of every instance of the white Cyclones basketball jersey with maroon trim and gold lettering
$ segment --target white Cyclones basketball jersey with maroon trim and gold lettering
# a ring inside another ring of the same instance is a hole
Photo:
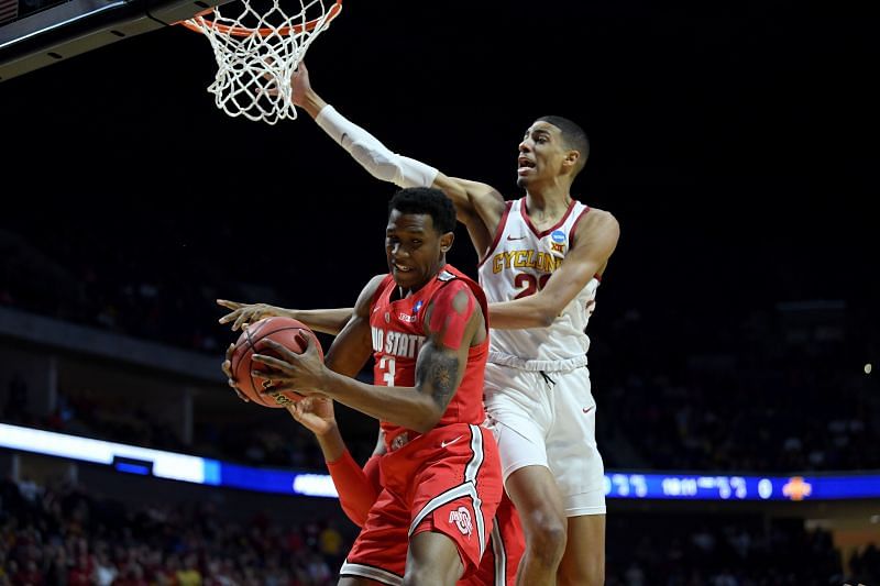
[[[572,200],[554,226],[539,232],[526,214],[526,198],[508,201],[492,247],[477,270],[488,301],[510,301],[542,289],[569,253],[574,229],[588,211]],[[598,279],[590,279],[547,328],[493,329],[488,362],[548,372],[585,365],[590,338],[584,330],[597,287]]]

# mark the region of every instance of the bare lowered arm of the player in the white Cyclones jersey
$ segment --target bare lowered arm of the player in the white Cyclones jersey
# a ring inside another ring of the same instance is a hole
[[[492,328],[517,330],[553,323],[590,279],[604,272],[619,236],[620,226],[614,215],[590,210],[578,224],[571,251],[542,289],[513,301],[490,303]]]

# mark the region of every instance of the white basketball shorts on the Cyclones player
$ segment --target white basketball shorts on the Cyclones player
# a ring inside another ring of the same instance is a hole
[[[546,377],[486,364],[487,427],[498,442],[504,479],[525,466],[544,466],[557,479],[566,517],[604,515],[605,467],[590,371],[581,366]]]

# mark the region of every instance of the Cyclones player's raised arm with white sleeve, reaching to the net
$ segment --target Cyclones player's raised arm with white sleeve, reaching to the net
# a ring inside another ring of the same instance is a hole
[[[414,158],[392,152],[378,139],[328,104],[311,86],[300,63],[290,80],[293,100],[371,175],[399,187],[436,187],[455,206],[459,221],[468,226],[477,253],[484,254],[504,214],[504,198],[492,186],[443,175]]]

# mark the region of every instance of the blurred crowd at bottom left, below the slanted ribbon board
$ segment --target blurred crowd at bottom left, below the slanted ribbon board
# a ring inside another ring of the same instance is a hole
[[[67,483],[0,483],[0,585],[324,586],[349,546],[332,518],[234,522],[210,501],[136,506]]]

